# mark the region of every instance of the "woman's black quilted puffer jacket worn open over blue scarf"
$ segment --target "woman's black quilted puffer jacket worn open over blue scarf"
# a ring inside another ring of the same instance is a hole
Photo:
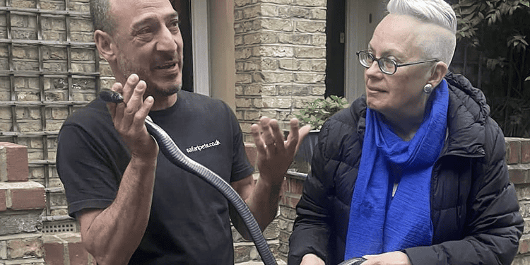
[[[449,85],[448,136],[432,170],[432,246],[404,249],[413,265],[510,264],[523,219],[505,163],[505,139],[483,93],[456,74]],[[322,127],[290,237],[290,265],[307,253],[343,261],[350,203],[365,131],[365,98]]]

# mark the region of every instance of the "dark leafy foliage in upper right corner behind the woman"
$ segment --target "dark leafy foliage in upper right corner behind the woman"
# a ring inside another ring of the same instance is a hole
[[[506,136],[530,137],[530,1],[454,0],[457,41],[481,54],[481,89]]]

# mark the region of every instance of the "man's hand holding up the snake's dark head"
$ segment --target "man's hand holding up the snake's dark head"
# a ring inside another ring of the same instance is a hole
[[[156,158],[158,145],[149,135],[144,121],[153,107],[153,97],[143,100],[146,92],[146,82],[140,81],[139,76],[131,74],[125,83],[114,83],[112,90],[121,93],[124,97],[122,103],[107,103],[112,116],[114,127],[124,139],[131,151],[131,156],[139,158]]]

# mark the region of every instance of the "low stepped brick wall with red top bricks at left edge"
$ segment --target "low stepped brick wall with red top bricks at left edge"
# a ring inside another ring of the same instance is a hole
[[[0,264],[45,265],[45,187],[28,180],[25,146],[0,142]]]

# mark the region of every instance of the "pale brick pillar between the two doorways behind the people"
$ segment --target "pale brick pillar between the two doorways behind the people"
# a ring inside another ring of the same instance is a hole
[[[259,117],[285,121],[322,98],[326,0],[235,0],[235,104],[245,141]]]

